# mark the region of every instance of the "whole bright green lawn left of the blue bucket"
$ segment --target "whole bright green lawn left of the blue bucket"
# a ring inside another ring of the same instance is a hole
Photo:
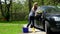
[[[0,34],[19,34],[22,33],[22,24],[27,21],[0,22]]]

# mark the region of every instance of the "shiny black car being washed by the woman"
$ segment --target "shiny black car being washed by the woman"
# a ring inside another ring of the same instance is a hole
[[[36,20],[35,27],[46,33],[60,32],[60,8],[57,6],[41,6],[37,11],[43,11],[42,19]],[[38,14],[37,14],[38,15]],[[36,16],[37,17],[37,16]]]

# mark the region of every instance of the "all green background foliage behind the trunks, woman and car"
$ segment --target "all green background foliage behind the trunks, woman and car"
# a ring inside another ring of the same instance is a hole
[[[60,0],[29,0],[29,1],[28,0],[24,1],[24,4],[22,4],[19,0],[17,2],[12,2],[9,9],[10,20],[28,20],[29,10],[31,9],[31,6],[29,7],[29,5],[33,5],[34,2],[38,2],[38,6],[42,5],[60,6]],[[6,8],[5,6],[6,6],[5,4],[2,5],[3,9],[2,11],[0,8],[0,18],[4,18],[2,14],[8,15],[7,14],[8,10],[6,9],[5,11]]]

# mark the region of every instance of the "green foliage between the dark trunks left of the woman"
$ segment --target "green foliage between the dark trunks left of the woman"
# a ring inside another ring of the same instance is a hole
[[[28,12],[28,2],[25,2],[24,4],[21,4],[20,2],[12,3],[12,20],[25,20]]]

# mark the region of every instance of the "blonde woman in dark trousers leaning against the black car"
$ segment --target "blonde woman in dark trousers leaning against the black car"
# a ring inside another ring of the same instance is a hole
[[[29,23],[27,27],[29,27],[30,24],[31,24],[31,28],[34,27],[34,16],[35,16],[36,9],[37,9],[37,2],[33,4],[33,7],[29,13]]]

